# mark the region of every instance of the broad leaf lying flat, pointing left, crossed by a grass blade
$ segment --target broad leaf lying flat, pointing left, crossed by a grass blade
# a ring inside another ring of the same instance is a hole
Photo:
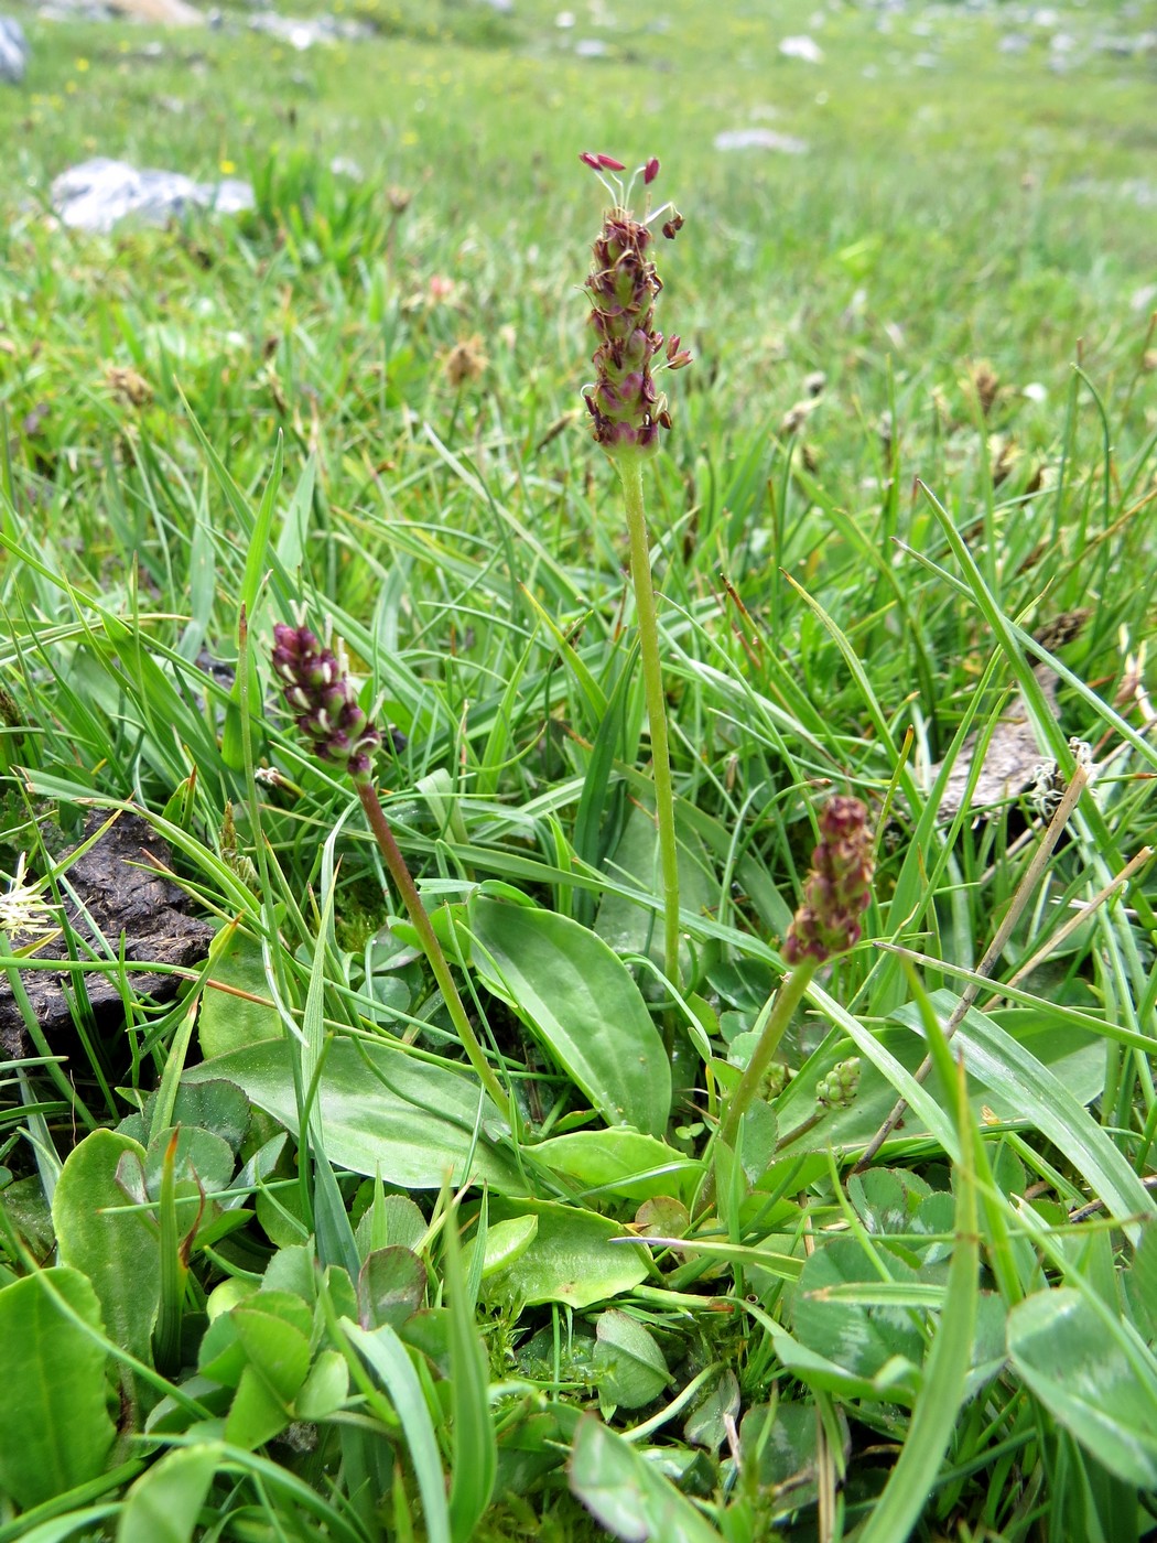
[[[298,1136],[298,1105],[290,1052],[284,1040],[265,1040],[218,1055],[185,1072],[185,1082],[225,1077],[236,1082],[259,1109]],[[392,1045],[335,1040],[318,1086],[326,1154],[339,1168],[410,1190],[437,1190],[447,1174],[461,1183],[467,1173],[504,1194],[521,1194],[526,1180],[487,1136],[474,1128],[481,1103],[483,1125],[501,1128],[503,1117],[469,1075],[413,1060]]]

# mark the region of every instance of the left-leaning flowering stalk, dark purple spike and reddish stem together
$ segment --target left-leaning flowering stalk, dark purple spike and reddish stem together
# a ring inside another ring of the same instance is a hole
[[[307,626],[287,626],[285,623],[278,623],[273,628],[272,657],[273,670],[284,685],[285,702],[296,714],[302,738],[322,761],[344,762],[346,772],[358,790],[361,807],[366,810],[366,819],[386,861],[386,869],[409,912],[471,1066],[495,1105],[503,1111],[512,1111],[511,1099],[478,1043],[478,1035],[474,1032],[474,1025],[458,995],[429,912],[393,838],[386,810],[381,807],[378,790],[373,785],[372,761],[373,751],[381,744],[381,733],[358,707],[346,660],[324,648]]]

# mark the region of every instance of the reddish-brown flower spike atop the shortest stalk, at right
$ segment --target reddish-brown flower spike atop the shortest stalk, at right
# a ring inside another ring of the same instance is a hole
[[[875,855],[867,810],[858,798],[830,798],[819,812],[819,846],[804,881],[804,904],[784,938],[788,964],[821,963],[859,943],[859,918],[872,900]]]

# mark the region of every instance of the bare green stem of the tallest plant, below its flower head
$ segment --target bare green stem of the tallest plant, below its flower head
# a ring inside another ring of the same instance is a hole
[[[651,583],[651,548],[643,511],[643,468],[637,455],[620,455],[616,469],[623,483],[626,529],[631,537],[631,583],[639,617],[639,651],[643,665],[646,719],[651,728],[651,765],[659,822],[659,859],[663,872],[663,969],[671,986],[679,986],[679,849],[674,833],[674,785],[666,738],[666,697],[663,665],[659,654],[659,619]],[[668,1052],[671,1026],[666,1028]]]

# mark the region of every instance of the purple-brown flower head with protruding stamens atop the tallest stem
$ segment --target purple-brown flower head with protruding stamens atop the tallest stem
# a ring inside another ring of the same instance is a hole
[[[594,420],[594,438],[608,455],[648,455],[659,447],[660,430],[671,427],[666,397],[656,387],[654,370],[677,370],[691,363],[680,339],[663,339],[654,326],[654,302],[663,284],[649,258],[654,239],[649,224],[666,214],[662,230],[673,238],[683,219],[671,205],[643,221],[628,208],[636,177],[642,176],[649,187],[659,174],[657,157],[640,167],[625,188],[616,176],[625,170],[622,160],[594,151],[585,151],[580,160],[599,173],[614,198],[603,214],[586,279],[599,347],[592,355],[597,378],[583,390],[583,400]]]

